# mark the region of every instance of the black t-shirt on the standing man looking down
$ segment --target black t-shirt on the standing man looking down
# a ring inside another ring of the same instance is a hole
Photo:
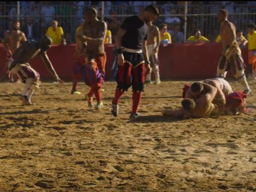
[[[121,45],[126,48],[141,50],[144,39],[147,40],[148,26],[138,16],[127,17],[121,29],[126,33],[121,39]]]

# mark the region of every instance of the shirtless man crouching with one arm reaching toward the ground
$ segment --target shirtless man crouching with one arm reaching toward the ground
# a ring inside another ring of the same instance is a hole
[[[50,73],[56,78],[56,81],[63,83],[56,74],[53,65],[46,54],[48,48],[51,47],[51,38],[44,35],[39,41],[24,42],[13,54],[13,63],[8,68],[8,74],[16,74],[22,83],[25,83],[25,88],[22,91],[21,100],[23,105],[32,105],[31,97],[35,88],[39,87],[39,74],[30,65],[29,61],[33,57],[39,55],[47,66]]]

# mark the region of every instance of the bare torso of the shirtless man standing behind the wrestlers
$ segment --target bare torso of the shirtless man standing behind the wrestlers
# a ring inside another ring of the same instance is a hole
[[[223,39],[223,48],[236,42],[236,27],[233,23],[225,20],[220,26],[220,36]]]

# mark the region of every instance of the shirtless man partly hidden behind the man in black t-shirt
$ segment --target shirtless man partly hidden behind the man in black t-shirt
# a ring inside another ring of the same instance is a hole
[[[152,22],[148,23],[148,38],[147,38],[147,47],[148,47],[148,57],[150,57],[151,68],[154,71],[155,81],[154,84],[160,84],[160,75],[159,75],[159,52],[160,45],[160,31],[157,26],[153,25]],[[150,70],[146,76],[145,83],[151,84],[151,72]]]

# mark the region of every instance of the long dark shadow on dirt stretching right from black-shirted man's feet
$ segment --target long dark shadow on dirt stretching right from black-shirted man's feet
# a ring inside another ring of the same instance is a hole
[[[163,115],[148,115],[148,116],[139,116],[134,120],[130,120],[129,123],[156,123],[156,122],[176,122],[182,121],[180,118],[166,117]]]

